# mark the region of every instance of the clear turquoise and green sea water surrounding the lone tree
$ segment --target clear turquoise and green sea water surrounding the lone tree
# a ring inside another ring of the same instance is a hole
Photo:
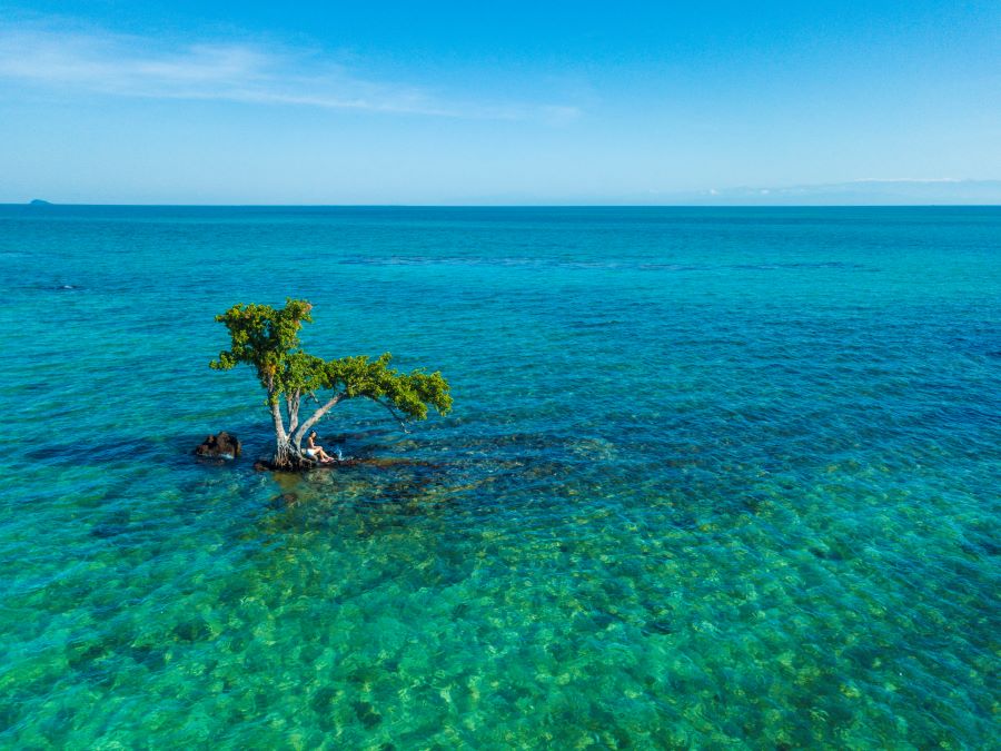
[[[0,207],[0,745],[999,742],[1001,209]],[[454,413],[255,473],[212,316],[289,295]]]

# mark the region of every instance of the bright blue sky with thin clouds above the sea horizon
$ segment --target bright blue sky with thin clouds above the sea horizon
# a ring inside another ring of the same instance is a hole
[[[0,0],[0,202],[1001,202],[1001,2]]]

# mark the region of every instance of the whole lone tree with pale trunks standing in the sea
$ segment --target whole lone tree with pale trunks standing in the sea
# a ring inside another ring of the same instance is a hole
[[[313,323],[313,306],[306,300],[286,299],[285,307],[234,305],[216,320],[229,330],[230,347],[219,353],[209,367],[229,370],[240,364],[257,372],[267,393],[265,404],[275,427],[275,468],[299,470],[315,462],[303,451],[309,429],[330,409],[364,397],[386,407],[404,424],[406,418],[425,419],[428,407],[444,415],[452,408],[448,382],[439,372],[416,369],[399,373],[389,367],[392,355],[323,359],[304,352],[299,343],[303,324]],[[299,419],[305,398],[316,409]]]

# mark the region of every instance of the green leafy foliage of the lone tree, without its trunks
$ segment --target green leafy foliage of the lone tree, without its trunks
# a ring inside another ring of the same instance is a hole
[[[291,298],[281,309],[232,306],[216,316],[229,330],[230,347],[209,366],[228,370],[250,365],[267,392],[268,404],[277,404],[284,395],[297,407],[303,394],[333,389],[341,398],[366,397],[415,419],[426,418],[428,407],[438,414],[452,408],[448,382],[440,373],[399,373],[389,367],[389,353],[375,359],[361,355],[325,360],[304,352],[299,330],[304,323],[313,322],[311,309],[306,300]]]

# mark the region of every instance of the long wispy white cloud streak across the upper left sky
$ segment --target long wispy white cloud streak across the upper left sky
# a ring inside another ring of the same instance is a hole
[[[167,45],[51,26],[0,26],[0,80],[76,92],[224,100],[434,117],[562,125],[576,107],[467,101],[419,86],[371,80],[316,51],[251,42]]]

